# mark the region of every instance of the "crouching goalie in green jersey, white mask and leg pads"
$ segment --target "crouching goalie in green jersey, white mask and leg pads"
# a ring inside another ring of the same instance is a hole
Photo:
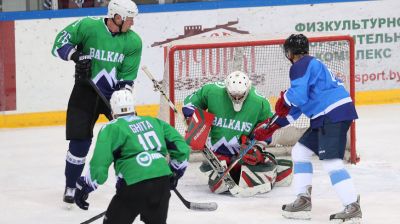
[[[290,185],[292,162],[268,152],[270,139],[249,143],[253,130],[272,112],[245,73],[235,71],[224,82],[204,85],[185,98],[182,111],[190,121],[187,141],[205,155],[200,170],[209,176],[212,192],[252,196]],[[222,175],[232,163],[236,165]]]

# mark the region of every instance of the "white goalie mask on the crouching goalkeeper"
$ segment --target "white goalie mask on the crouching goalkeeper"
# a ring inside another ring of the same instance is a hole
[[[233,109],[239,112],[251,88],[249,77],[241,71],[229,74],[225,79],[226,91],[233,103]]]

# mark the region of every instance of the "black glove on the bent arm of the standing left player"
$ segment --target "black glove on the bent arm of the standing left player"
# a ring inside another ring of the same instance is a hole
[[[71,60],[75,62],[75,79],[82,80],[91,77],[92,58],[80,51],[75,51],[71,55]]]

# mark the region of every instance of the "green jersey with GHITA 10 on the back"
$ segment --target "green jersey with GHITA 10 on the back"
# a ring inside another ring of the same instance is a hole
[[[190,148],[169,124],[157,118],[123,116],[110,121],[100,130],[89,173],[92,183],[103,184],[108,168],[114,162],[117,176],[128,185],[151,178],[171,175],[171,163],[184,168]]]

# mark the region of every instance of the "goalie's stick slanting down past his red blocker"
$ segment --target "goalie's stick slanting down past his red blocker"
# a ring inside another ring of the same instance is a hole
[[[164,90],[162,89],[161,85],[157,82],[157,80],[155,80],[154,76],[151,74],[151,72],[149,71],[147,66],[142,66],[142,70],[147,75],[147,77],[149,77],[149,79],[153,82],[154,89],[158,90],[161,93],[161,95],[165,98],[165,100],[167,100],[167,102],[168,102],[169,106],[171,107],[171,109],[179,117],[179,119],[181,119],[183,121],[183,124],[187,128],[187,124],[185,122],[185,118],[176,109],[174,103],[169,99],[169,97],[164,92]],[[202,150],[201,152],[203,153],[205,158],[209,161],[210,165],[213,167],[213,170],[215,170],[218,174],[224,173],[225,167],[221,164],[221,162],[218,160],[218,158],[215,156],[215,154],[211,151],[211,149],[207,145],[206,145],[206,148],[204,150]],[[232,179],[232,177],[230,175],[224,175],[223,180],[225,180],[225,183],[226,183],[226,185],[227,185],[227,187],[229,189],[229,192],[232,195],[237,195],[241,191],[242,188],[239,187],[235,183],[235,181]],[[214,190],[211,189],[211,191],[214,192],[215,189]]]

